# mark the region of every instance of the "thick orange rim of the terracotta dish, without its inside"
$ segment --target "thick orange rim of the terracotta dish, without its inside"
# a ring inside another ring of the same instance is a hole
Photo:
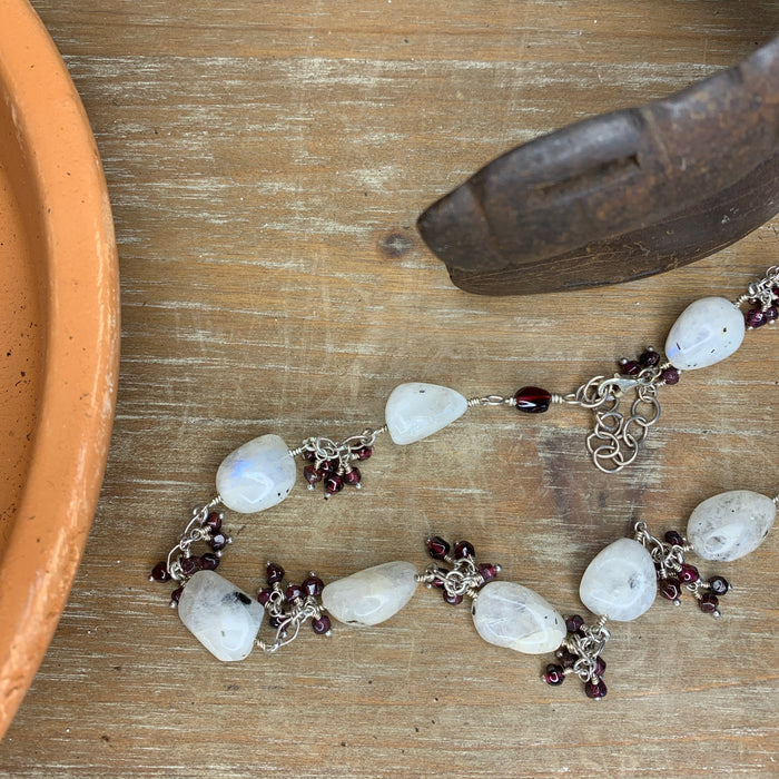
[[[36,427],[0,550],[2,737],[57,628],[95,514],[116,401],[119,277],[102,167],[65,63],[27,0],[0,0],[0,100],[19,139],[10,154],[22,157],[37,201],[26,216],[43,246]]]

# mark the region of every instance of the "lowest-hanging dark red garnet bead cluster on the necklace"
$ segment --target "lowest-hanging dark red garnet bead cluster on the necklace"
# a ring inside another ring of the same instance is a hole
[[[584,694],[588,698],[605,698],[605,660],[600,655],[609,640],[604,622],[601,618],[594,625],[588,625],[579,614],[566,617],[568,635],[555,652],[559,662],[549,663],[541,678],[548,684],[556,687],[565,681],[565,677],[574,673],[584,682]]]

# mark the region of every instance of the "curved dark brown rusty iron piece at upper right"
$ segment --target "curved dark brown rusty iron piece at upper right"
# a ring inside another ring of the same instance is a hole
[[[700,259],[779,211],[779,37],[681,92],[524,144],[417,227],[462,289],[627,282]]]

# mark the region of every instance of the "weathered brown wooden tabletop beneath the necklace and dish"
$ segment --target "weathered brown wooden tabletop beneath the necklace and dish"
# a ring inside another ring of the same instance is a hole
[[[539,679],[548,658],[484,643],[423,589],[386,624],[308,631],[220,664],[147,581],[220,460],[277,433],[381,425],[405,381],[469,397],[569,392],[662,346],[692,299],[736,298],[777,263],[779,220],[694,265],[599,290],[454,288],[417,214],[512,146],[668,95],[779,28],[776,2],[33,0],[106,167],[122,278],[122,371],[102,497],[58,632],[0,743],[2,777],[777,776],[777,531],[714,565],[720,620],[688,598],[615,624],[609,696]],[[777,493],[779,331],[662,392],[617,475],[590,415],[475,408],[377,445],[365,489],[298,486],[229,516],[220,571],[254,590],[274,559],[326,581],[424,568],[466,538],[502,578],[580,611],[592,555],[642,519]],[[386,437],[386,436],[385,436]]]

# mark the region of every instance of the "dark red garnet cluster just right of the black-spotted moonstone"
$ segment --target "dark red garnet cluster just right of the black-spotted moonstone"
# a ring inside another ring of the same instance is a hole
[[[285,631],[310,619],[312,630],[317,635],[331,635],[331,619],[322,613],[319,598],[325,584],[314,572],[300,584],[286,582],[285,571],[277,563],[265,566],[267,586],[257,592],[257,600],[268,614],[268,624]]]

